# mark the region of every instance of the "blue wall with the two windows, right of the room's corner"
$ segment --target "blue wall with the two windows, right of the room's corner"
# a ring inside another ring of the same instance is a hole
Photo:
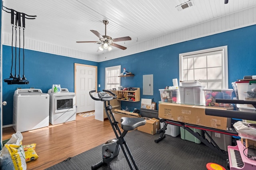
[[[172,79],[179,81],[179,54],[213,47],[228,45],[228,88],[231,82],[242,79],[245,75],[256,75],[256,25],[218,33],[126,57],[104,61],[99,64],[99,90],[104,89],[105,67],[121,65],[135,74],[134,77],[121,78],[123,87],[141,88],[140,98],[154,98],[160,101],[160,92],[166,86],[172,86]],[[154,95],[142,95],[142,76],[154,74]],[[122,101],[122,108],[126,106],[132,111],[140,108],[140,102]],[[158,107],[157,107],[158,109]]]

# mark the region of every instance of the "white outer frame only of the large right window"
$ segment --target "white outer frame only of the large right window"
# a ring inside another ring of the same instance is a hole
[[[181,53],[179,54],[179,79],[183,79],[183,57],[192,57],[192,56],[200,56],[202,54],[210,54],[214,53],[214,51],[222,51],[222,82],[223,87],[222,89],[228,89],[228,46],[221,46],[221,47],[215,47],[210,49],[204,49],[204,50],[198,50],[198,51],[192,51],[188,53]],[[200,81],[200,80],[198,80]],[[209,80],[207,82],[211,82],[212,80]]]

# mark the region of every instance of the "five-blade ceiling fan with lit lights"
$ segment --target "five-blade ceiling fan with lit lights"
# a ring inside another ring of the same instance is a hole
[[[117,48],[122,49],[122,50],[127,49],[126,47],[124,47],[122,45],[115,44],[115,42],[128,41],[128,40],[131,40],[131,37],[128,36],[128,37],[120,37],[120,38],[112,39],[110,36],[106,35],[106,32],[107,32],[106,29],[107,29],[108,21],[103,20],[103,23],[105,25],[105,35],[100,35],[100,33],[98,31],[90,30],[90,31],[92,31],[92,33],[94,33],[97,37],[100,38],[100,41],[76,41],[76,42],[77,43],[97,43],[97,44],[101,44],[98,51],[103,51],[104,49],[108,49],[108,51],[111,51],[112,50],[111,46],[117,47]]]

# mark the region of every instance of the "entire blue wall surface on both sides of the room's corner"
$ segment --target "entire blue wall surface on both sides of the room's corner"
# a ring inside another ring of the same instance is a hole
[[[228,45],[228,83],[243,78],[245,75],[256,75],[256,25],[227,31],[207,37],[194,39],[158,49],[104,61],[100,63],[73,59],[59,55],[25,50],[25,76],[28,85],[7,85],[3,82],[3,125],[12,124],[13,94],[17,87],[40,88],[47,93],[52,84],[74,91],[74,63],[98,66],[98,84],[102,91],[105,84],[105,67],[121,65],[134,77],[122,77],[121,86],[141,88],[140,98],[154,98],[160,101],[158,89],[172,86],[172,79],[179,78],[179,54],[213,47]],[[3,46],[3,78],[9,78],[11,67],[11,47]],[[22,74],[22,73],[21,73]],[[142,95],[142,76],[154,75],[154,95]],[[140,108],[140,102],[122,101],[122,107],[130,110]],[[157,107],[158,109],[158,107]]]

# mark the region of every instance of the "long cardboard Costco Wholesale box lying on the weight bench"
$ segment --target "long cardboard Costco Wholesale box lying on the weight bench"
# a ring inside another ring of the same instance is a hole
[[[227,118],[205,115],[206,106],[194,106],[185,104],[160,103],[158,116],[162,119],[180,121],[193,125],[212,127],[227,130]],[[208,109],[213,109],[207,107]],[[225,110],[225,108],[214,108]]]

